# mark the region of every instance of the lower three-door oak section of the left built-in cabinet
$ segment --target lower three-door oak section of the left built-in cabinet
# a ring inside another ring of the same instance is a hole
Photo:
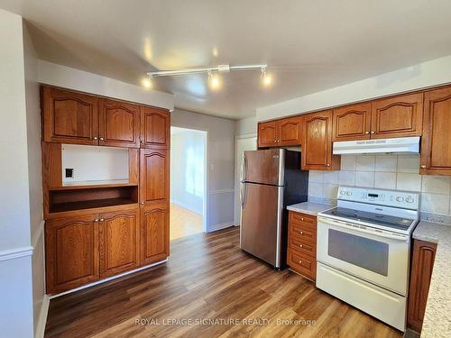
[[[47,293],[54,295],[165,260],[169,205],[51,219],[45,233]]]

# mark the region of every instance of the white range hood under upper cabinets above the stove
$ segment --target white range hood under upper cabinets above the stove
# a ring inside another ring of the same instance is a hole
[[[378,152],[419,153],[419,136],[334,142],[333,152],[336,155],[371,154]]]

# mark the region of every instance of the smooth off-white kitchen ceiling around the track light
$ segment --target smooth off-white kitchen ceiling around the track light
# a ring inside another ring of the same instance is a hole
[[[0,0],[41,59],[141,84],[154,69],[267,63],[222,76],[157,78],[175,105],[243,118],[257,107],[451,54],[449,0]],[[213,50],[217,50],[217,56]]]

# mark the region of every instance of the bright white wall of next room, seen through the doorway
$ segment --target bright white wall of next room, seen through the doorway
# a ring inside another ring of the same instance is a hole
[[[174,127],[172,127],[173,129]],[[170,134],[170,202],[203,214],[207,132],[179,129]]]

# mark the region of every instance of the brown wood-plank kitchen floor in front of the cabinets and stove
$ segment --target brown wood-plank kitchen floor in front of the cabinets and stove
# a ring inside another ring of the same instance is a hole
[[[216,324],[198,324],[199,319]],[[296,320],[306,323],[292,324]],[[45,336],[400,337],[401,333],[320,291],[308,279],[288,269],[276,271],[248,256],[239,248],[238,228],[228,228],[172,241],[170,260],[159,267],[52,299]]]

